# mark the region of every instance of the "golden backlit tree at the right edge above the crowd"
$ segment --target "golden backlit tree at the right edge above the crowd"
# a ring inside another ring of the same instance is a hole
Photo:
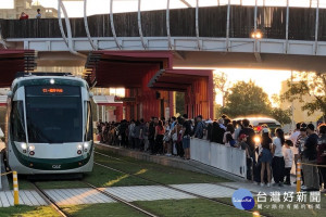
[[[293,80],[293,81],[292,81]],[[292,81],[292,82],[291,82]],[[290,102],[299,100],[303,102],[302,111],[308,111],[308,115],[321,111],[326,119],[326,74],[322,73],[294,73],[291,79],[288,79],[288,91],[281,95],[281,100]],[[306,102],[306,95],[313,97],[311,102]]]

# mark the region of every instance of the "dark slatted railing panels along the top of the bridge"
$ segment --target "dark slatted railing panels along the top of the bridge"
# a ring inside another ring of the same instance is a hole
[[[288,39],[326,40],[326,9],[318,9],[318,24],[315,8],[289,8]],[[227,36],[228,5],[199,8],[199,37],[225,38]],[[256,14],[256,17],[255,17]],[[170,30],[172,37],[197,37],[196,9],[170,10]],[[263,33],[263,38],[286,39],[287,8],[230,5],[229,37],[250,38],[254,27]],[[139,37],[137,12],[113,14],[117,37]],[[72,35],[87,37],[83,18],[70,18]],[[64,28],[65,24],[63,23]],[[109,14],[88,17],[91,37],[113,37]],[[3,38],[61,38],[57,18],[41,20],[0,20]],[[166,37],[166,11],[141,12],[143,37]]]

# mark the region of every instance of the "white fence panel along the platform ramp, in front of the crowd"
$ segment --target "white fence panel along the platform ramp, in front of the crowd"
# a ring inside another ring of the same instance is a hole
[[[191,139],[190,158],[229,174],[247,177],[246,152],[208,140]]]

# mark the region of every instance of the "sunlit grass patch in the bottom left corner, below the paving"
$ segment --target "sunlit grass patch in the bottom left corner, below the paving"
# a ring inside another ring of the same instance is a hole
[[[0,217],[60,217],[51,206],[11,206],[0,208]]]

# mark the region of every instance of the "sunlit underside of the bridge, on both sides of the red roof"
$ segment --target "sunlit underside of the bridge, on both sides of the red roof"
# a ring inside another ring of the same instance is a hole
[[[139,51],[140,52],[140,51]],[[87,53],[85,53],[87,54]],[[173,51],[173,67],[259,68],[325,72],[326,56],[244,52]],[[70,52],[38,52],[38,66],[84,66],[86,58]]]

